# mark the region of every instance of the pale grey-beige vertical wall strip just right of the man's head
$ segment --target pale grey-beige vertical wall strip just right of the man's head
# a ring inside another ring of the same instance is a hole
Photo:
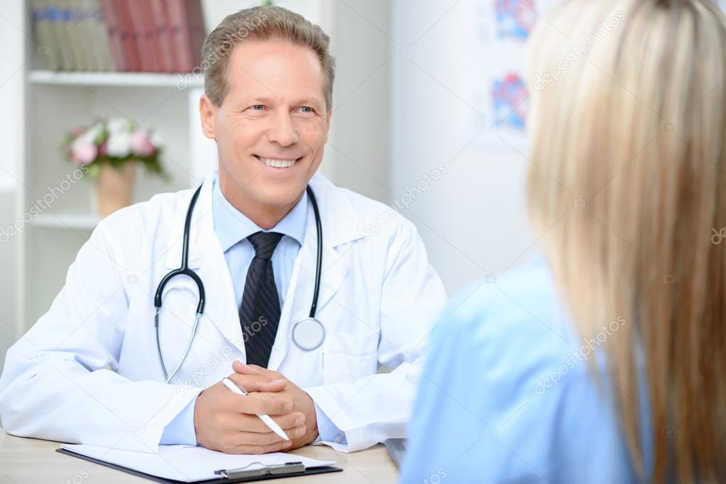
[[[393,42],[387,0],[346,0],[335,4],[330,28],[337,63],[333,118],[325,157],[336,185],[386,201],[388,104]]]

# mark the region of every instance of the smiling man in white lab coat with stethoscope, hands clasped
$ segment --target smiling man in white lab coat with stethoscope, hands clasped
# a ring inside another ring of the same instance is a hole
[[[8,433],[227,453],[356,451],[404,435],[446,296],[410,222],[316,174],[328,42],[280,7],[229,15],[208,36],[200,117],[219,171],[198,196],[161,194],[99,223],[49,311],[7,352]],[[189,272],[163,281],[187,251]],[[229,391],[227,376],[250,394]]]

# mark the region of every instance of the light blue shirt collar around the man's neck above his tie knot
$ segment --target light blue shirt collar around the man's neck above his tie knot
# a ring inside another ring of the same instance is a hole
[[[221,188],[219,188],[219,178],[215,176],[213,188],[213,218],[214,232],[219,238],[222,251],[227,252],[237,242],[247,238],[256,232],[279,232],[293,238],[299,246],[303,245],[305,238],[305,226],[308,218],[308,193],[303,193],[303,197],[298,201],[293,209],[282,217],[270,230],[260,228],[255,222],[250,220],[245,214],[234,208],[229,201],[224,198]]]

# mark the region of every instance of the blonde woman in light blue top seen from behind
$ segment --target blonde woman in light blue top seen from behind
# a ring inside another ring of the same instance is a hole
[[[569,0],[531,38],[542,257],[432,336],[404,483],[726,482],[726,23]]]

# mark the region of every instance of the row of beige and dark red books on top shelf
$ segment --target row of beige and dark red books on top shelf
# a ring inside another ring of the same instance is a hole
[[[201,0],[31,0],[44,69],[192,72],[205,25]]]

